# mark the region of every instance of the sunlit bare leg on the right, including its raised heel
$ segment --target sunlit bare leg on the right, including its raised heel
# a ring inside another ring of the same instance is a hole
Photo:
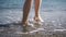
[[[34,20],[36,22],[41,21],[43,22],[43,20],[40,16],[40,7],[41,7],[42,0],[35,0],[35,16]]]

